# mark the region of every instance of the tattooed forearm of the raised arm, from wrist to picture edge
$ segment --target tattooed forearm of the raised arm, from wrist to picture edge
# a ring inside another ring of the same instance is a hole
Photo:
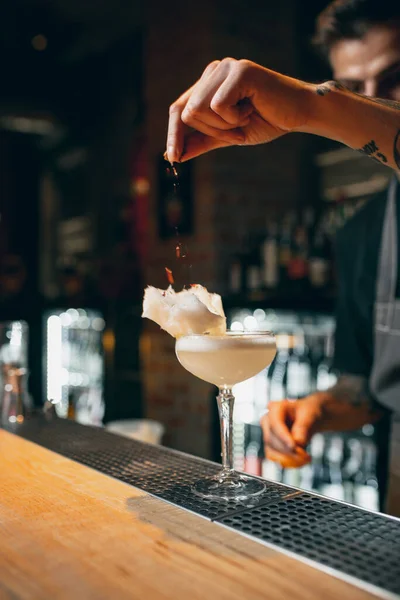
[[[330,81],[308,86],[301,131],[336,140],[400,171],[400,103],[366,98]]]

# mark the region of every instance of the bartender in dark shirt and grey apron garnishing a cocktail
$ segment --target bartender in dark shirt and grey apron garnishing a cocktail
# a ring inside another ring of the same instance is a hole
[[[364,12],[368,6],[373,17]],[[339,264],[345,262],[346,267],[341,272],[338,330],[351,330],[348,335],[363,357],[363,367],[356,368],[355,362],[346,364],[346,357],[350,354],[353,358],[355,352],[350,341],[342,338],[341,342],[339,335],[336,355],[343,375],[337,385],[298,402],[270,403],[263,430],[269,457],[280,462],[290,458],[292,465],[301,466],[304,452],[298,448],[305,446],[314,432],[357,429],[390,414],[387,511],[400,514],[400,304],[396,304],[400,103],[362,95],[382,94],[382,89],[389,89],[390,78],[396,81],[396,67],[400,71],[399,11],[393,8],[389,14],[389,9],[385,2],[378,7],[376,2],[353,0],[335,2],[325,13],[327,35],[320,39],[326,39],[335,76],[344,84],[338,80],[309,84],[246,60],[211,63],[171,106],[166,154],[170,161],[184,161],[216,148],[265,143],[300,131],[340,141],[395,171],[388,193],[355,217],[354,222],[360,223],[358,231],[348,234],[344,229],[339,241],[345,255],[345,261],[339,256]],[[352,19],[356,22],[354,33]],[[323,27],[321,18],[321,32]],[[357,46],[364,54],[356,60]],[[352,57],[358,70],[345,68]],[[367,89],[362,87],[364,82]],[[360,85],[355,92],[351,89],[354,83]],[[390,89],[395,90],[396,85]],[[394,91],[385,92],[391,98],[392,94]],[[351,245],[347,245],[349,236]],[[378,254],[375,271],[374,253]],[[369,354],[367,343],[363,344],[368,335]]]

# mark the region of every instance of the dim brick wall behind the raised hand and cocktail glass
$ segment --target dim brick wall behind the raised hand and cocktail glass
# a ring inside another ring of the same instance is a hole
[[[151,170],[147,283],[165,286],[171,242],[156,230],[156,159],[165,148],[169,104],[215,58],[249,58],[295,75],[295,2],[243,3],[204,0],[173,5],[150,1],[146,52],[146,129]],[[264,224],[267,207],[293,206],[299,199],[300,161],[306,141],[290,136],[269,146],[231,148],[196,159],[195,232],[189,247],[196,280],[223,291],[239,234]],[[142,357],[147,415],[167,428],[166,443],[208,456],[212,388],[186,373],[176,360],[173,340],[153,324],[145,327]]]

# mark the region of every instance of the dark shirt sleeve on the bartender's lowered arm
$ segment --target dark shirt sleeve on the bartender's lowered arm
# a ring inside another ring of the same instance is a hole
[[[334,368],[369,377],[372,367],[372,289],[366,295],[360,231],[345,226],[336,238],[338,297]],[[372,284],[373,287],[373,284]]]

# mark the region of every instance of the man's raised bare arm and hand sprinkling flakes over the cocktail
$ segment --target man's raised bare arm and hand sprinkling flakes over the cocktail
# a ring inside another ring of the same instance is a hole
[[[291,131],[323,136],[400,170],[400,103],[314,85],[249,60],[224,58],[171,105],[165,158],[270,142]]]

